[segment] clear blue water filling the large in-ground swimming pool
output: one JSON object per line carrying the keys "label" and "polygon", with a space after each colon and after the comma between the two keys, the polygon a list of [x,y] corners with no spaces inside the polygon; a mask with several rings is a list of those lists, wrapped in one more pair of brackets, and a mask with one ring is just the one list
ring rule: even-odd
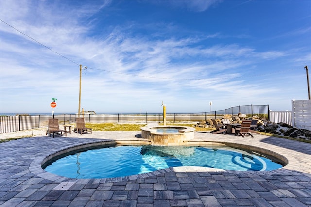
{"label": "clear blue water filling the large in-ground swimming pool", "polygon": [[77,152],[48,163],[45,170],[69,178],[110,178],[177,166],[239,171],[273,170],[282,167],[265,157],[229,147],[142,145]]}

